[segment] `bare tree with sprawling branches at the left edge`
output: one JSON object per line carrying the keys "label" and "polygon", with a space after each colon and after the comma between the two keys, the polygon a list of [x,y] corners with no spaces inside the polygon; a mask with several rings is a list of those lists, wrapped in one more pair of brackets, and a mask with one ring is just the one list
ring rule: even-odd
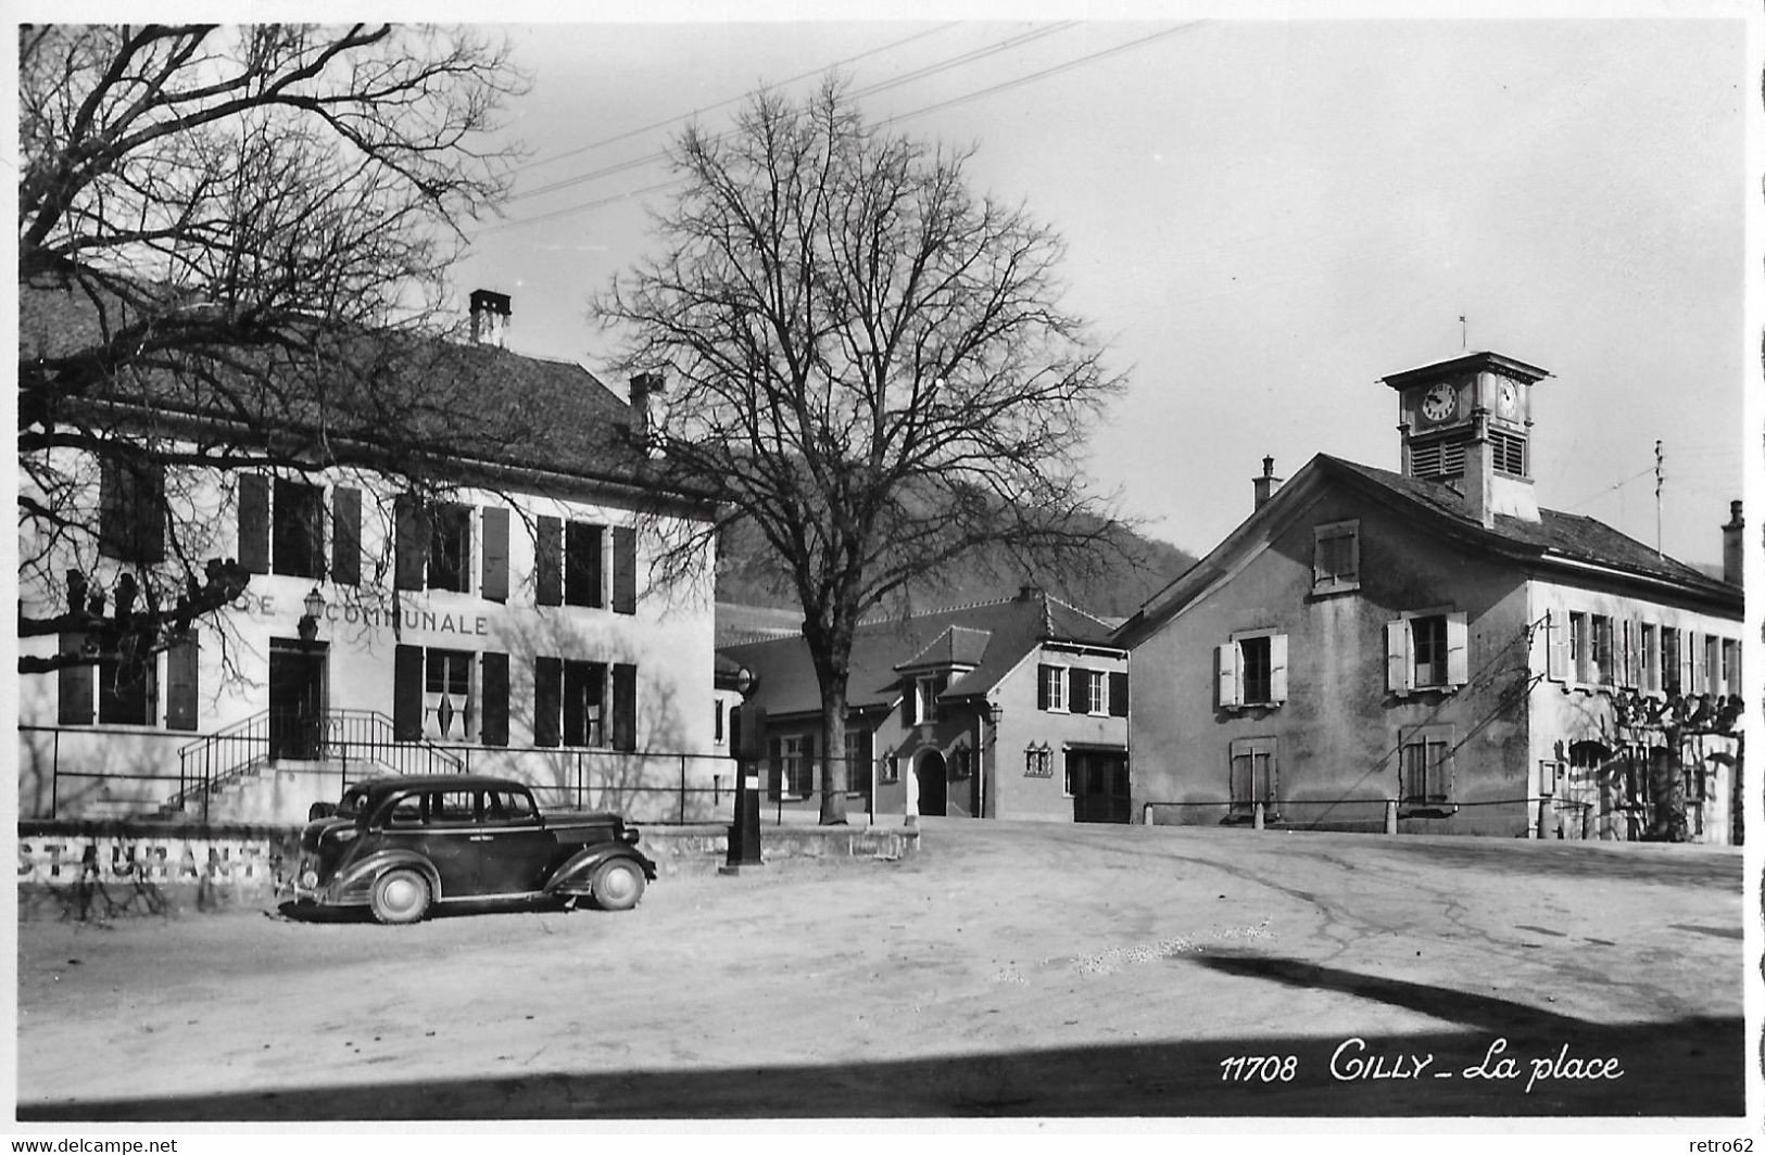
{"label": "bare tree with sprawling branches at the left edge", "polygon": [[468,30],[21,28],[19,635],[86,637],[21,672],[139,663],[244,591],[199,471],[415,469],[450,432],[422,339],[522,83]]}

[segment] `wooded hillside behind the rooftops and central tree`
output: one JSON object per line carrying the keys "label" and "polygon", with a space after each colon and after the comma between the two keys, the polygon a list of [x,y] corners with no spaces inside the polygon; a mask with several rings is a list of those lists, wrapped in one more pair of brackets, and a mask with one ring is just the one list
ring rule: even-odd
{"label": "wooded hillside behind the rooftops and central tree", "polygon": [[[932,610],[971,601],[1010,598],[1025,584],[1041,585],[1055,598],[1103,619],[1131,615],[1154,592],[1195,564],[1195,555],[1168,541],[1142,538],[1115,527],[1108,545],[1094,550],[1084,575],[1024,573],[1004,550],[978,557],[937,582],[923,582],[909,591],[914,608]],[[717,601],[775,610],[794,610],[801,621],[789,584],[773,561],[766,541],[741,522],[724,533],[718,545]]]}

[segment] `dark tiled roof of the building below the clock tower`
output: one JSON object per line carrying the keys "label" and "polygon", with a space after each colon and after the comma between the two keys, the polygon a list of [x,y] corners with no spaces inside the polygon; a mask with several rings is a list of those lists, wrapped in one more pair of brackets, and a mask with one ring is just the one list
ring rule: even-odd
{"label": "dark tiled roof of the building below the clock tower", "polygon": [[1449,485],[1408,478],[1401,473],[1391,473],[1389,469],[1361,466],[1340,457],[1329,457],[1327,453],[1318,453],[1313,460],[1327,473],[1368,481],[1403,503],[1419,506],[1426,513],[1438,518],[1446,518],[1449,524],[1458,524],[1458,527],[1467,531],[1490,534],[1490,545],[1493,547],[1506,543],[1514,552],[1537,555],[1544,561],[1553,557],[1567,559],[1604,566],[1608,570],[1638,573],[1650,578],[1679,582],[1687,589],[1705,594],[1740,594],[1737,585],[1730,585],[1728,582],[1712,578],[1693,566],[1675,561],[1673,557],[1657,554],[1636,538],[1629,538],[1611,525],[1590,517],[1560,513],[1557,510],[1539,510],[1539,520],[1532,522],[1498,513],[1495,517],[1495,525],[1491,529],[1484,529],[1483,522],[1472,513],[1470,503],[1467,503],[1465,497]]}

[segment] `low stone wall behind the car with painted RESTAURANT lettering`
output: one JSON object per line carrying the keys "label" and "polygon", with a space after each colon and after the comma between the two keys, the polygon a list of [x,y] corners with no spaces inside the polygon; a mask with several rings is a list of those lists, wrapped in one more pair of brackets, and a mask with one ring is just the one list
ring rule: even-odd
{"label": "low stone wall behind the car with painted RESTAURANT lettering", "polygon": [[[644,825],[639,848],[660,876],[713,873],[727,825]],[[918,852],[900,825],[761,827],[761,861],[874,861]],[[18,823],[19,917],[104,919],[270,908],[286,894],[300,827],[176,822]]]}

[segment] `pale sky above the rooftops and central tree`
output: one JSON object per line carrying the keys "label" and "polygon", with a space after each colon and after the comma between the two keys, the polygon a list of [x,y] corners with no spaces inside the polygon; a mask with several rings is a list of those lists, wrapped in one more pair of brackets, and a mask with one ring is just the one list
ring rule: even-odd
{"label": "pale sky above the rooftops and central tree", "polygon": [[510,347],[598,370],[618,335],[590,296],[655,249],[685,118],[838,65],[868,116],[976,145],[971,185],[1063,235],[1066,305],[1128,374],[1087,467],[1151,536],[1213,548],[1264,455],[1398,469],[1378,379],[1491,349],[1551,372],[1543,506],[1654,545],[1659,439],[1661,545],[1719,561],[1758,446],[1747,25],[1170,11],[505,25],[528,159],[459,291],[514,298]]}

